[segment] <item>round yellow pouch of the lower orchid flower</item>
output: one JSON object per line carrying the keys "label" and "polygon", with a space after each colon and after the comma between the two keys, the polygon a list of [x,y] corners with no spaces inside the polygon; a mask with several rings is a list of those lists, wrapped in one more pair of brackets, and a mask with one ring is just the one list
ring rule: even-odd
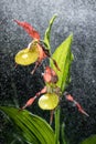
{"label": "round yellow pouch of the lower orchid flower", "polygon": [[43,110],[53,110],[58,104],[58,96],[55,93],[46,93],[39,99],[39,106]]}

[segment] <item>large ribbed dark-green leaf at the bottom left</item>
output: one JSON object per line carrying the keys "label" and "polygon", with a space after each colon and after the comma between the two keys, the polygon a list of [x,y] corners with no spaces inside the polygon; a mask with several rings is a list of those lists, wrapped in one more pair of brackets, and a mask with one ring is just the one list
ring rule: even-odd
{"label": "large ribbed dark-green leaf at the bottom left", "polygon": [[19,127],[21,136],[30,144],[55,144],[55,134],[52,127],[41,117],[26,110],[10,106],[0,106],[12,122]]}

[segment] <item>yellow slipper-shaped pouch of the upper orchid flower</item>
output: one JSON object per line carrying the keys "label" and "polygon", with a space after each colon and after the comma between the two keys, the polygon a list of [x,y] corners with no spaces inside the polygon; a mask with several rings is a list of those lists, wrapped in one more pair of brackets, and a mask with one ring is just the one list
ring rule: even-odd
{"label": "yellow slipper-shaped pouch of the upper orchid flower", "polygon": [[38,49],[30,50],[29,48],[21,50],[15,55],[15,63],[21,65],[30,65],[39,58]]}

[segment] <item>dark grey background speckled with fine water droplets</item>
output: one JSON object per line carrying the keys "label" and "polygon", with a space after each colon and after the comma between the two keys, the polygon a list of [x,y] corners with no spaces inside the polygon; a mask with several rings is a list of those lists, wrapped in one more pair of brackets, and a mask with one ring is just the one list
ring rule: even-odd
{"label": "dark grey background speckled with fine water droplets", "polygon": [[[14,69],[15,53],[25,48],[31,38],[13,22],[13,19],[28,21],[43,39],[54,13],[58,17],[52,28],[52,52],[73,32],[74,62],[68,92],[89,114],[89,117],[82,115],[63,99],[61,120],[66,124],[68,140],[72,144],[77,144],[96,134],[96,0],[0,0],[0,103],[23,105],[43,86],[40,69],[34,76],[30,74],[33,65],[19,65]],[[49,119],[49,114],[39,110],[38,104],[33,104],[31,110]],[[8,144],[7,131],[11,133],[11,128],[2,115],[0,127],[1,144]]]}

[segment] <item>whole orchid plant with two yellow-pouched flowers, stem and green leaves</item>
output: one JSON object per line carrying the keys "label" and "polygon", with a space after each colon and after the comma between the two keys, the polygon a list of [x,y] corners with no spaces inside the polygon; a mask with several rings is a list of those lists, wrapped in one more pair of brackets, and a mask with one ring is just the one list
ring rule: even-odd
{"label": "whole orchid plant with two yellow-pouched flowers, stem and green leaves", "polygon": [[[64,123],[62,124],[62,130],[60,130],[60,101],[62,96],[65,96],[66,100],[73,102],[79,112],[88,116],[73,96],[65,92],[66,86],[71,82],[70,70],[73,61],[71,44],[73,41],[73,34],[68,35],[66,40],[56,48],[54,53],[51,54],[51,28],[55,18],[56,16],[51,19],[49,28],[45,31],[44,40],[40,39],[39,32],[36,32],[29,23],[15,20],[15,22],[23,27],[34,39],[28,48],[23,49],[15,55],[15,62],[21,65],[28,65],[35,62],[34,70],[31,72],[31,74],[33,74],[38,66],[41,65],[42,60],[45,58],[50,59],[50,64],[46,65],[43,74],[45,86],[41,92],[38,92],[36,95],[31,97],[21,109],[0,106],[0,110],[17,125],[19,136],[22,137],[22,141],[29,144],[60,144],[60,131],[62,135],[62,144],[67,144],[64,136]],[[55,130],[53,130],[44,119],[24,110],[40,95],[40,107],[43,110],[51,110],[52,112],[51,123],[54,113]],[[15,143],[15,141],[13,142]]]}

